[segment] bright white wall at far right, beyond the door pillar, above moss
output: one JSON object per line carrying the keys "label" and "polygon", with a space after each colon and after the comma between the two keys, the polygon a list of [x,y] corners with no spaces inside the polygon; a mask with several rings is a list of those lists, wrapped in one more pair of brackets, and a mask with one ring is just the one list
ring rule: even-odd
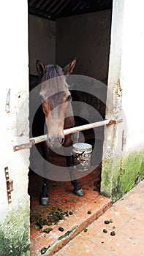
{"label": "bright white wall at far right, beyond the door pillar, above moss", "polygon": [[[137,8],[137,9],[136,9]],[[126,116],[126,151],[144,149],[144,2],[124,3],[124,29],[121,59],[122,108]]]}

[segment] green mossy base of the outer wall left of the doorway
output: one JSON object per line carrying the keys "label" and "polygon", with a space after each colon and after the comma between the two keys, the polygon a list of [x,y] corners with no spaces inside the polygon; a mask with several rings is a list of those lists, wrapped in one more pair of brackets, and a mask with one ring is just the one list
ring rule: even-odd
{"label": "green mossy base of the outer wall left of the doorway", "polygon": [[29,251],[29,209],[10,211],[0,225],[0,255],[30,255]]}

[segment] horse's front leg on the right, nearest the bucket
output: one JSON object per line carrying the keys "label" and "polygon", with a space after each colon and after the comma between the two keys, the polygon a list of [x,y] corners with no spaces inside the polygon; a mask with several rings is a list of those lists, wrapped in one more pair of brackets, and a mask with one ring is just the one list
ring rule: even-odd
{"label": "horse's front leg on the right, nearest the bucket", "polygon": [[80,185],[77,184],[77,180],[75,178],[75,174],[74,174],[74,168],[72,165],[72,155],[71,155],[71,148],[69,148],[69,146],[72,146],[72,139],[67,138],[67,140],[64,143],[64,152],[66,155],[66,162],[67,162],[67,167],[69,169],[69,174],[70,174],[70,179],[71,179],[71,184],[74,186],[74,190],[73,192],[75,193],[75,195],[79,195],[80,197],[83,197],[84,192],[83,189],[80,187]]}

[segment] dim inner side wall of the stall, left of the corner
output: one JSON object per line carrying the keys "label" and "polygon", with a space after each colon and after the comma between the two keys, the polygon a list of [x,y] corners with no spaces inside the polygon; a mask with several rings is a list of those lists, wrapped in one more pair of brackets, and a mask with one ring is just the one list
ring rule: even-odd
{"label": "dim inner side wall of the stall, left of the corner", "polygon": [[56,22],[29,15],[29,68],[37,74],[37,59],[45,64],[56,61]]}

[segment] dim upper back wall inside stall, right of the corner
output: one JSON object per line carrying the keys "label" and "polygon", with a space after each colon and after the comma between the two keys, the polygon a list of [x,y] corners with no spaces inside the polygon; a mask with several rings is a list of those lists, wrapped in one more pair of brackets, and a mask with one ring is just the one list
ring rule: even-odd
{"label": "dim upper back wall inside stall, right of the corner", "polygon": [[111,11],[56,20],[56,63],[77,57],[75,74],[107,81]]}

